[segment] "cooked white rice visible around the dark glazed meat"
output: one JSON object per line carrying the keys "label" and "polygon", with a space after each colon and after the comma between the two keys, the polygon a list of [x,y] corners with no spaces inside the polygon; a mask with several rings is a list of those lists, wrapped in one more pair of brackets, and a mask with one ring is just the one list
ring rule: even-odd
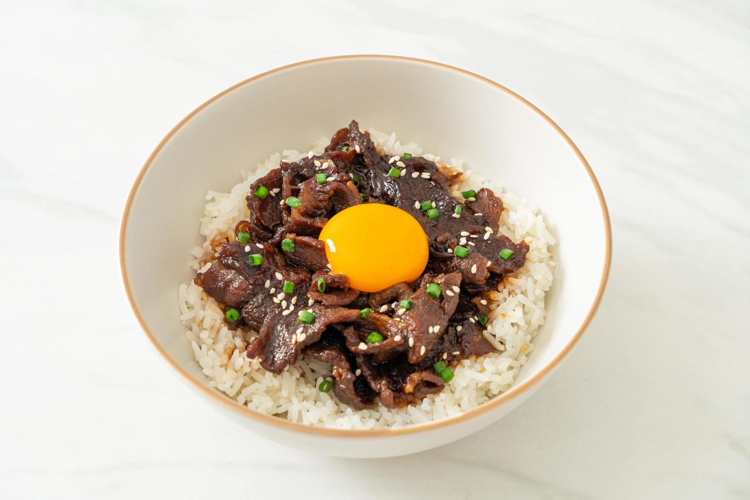
{"label": "cooked white rice visible around the dark glazed meat", "polygon": [[[371,137],[386,154],[400,155],[410,152],[422,155],[436,163],[444,163],[463,170],[463,161],[452,158],[441,160],[433,154],[423,154],[413,142],[401,144],[395,133],[387,134],[368,129]],[[328,144],[323,138],[314,142],[312,151],[323,153]],[[233,229],[239,220],[247,219],[249,211],[245,196],[251,181],[275,169],[279,161],[295,161],[308,152],[284,150],[272,154],[268,160],[249,172],[240,172],[241,181],[229,193],[208,191],[200,233],[205,238],[202,247],[192,250],[193,269],[208,268],[215,250],[224,241],[233,239]],[[231,330],[223,322],[223,314],[216,302],[209,298],[192,281],[179,287],[180,319],[187,327],[185,337],[193,346],[196,361],[208,377],[208,384],[227,396],[269,415],[278,415],[289,421],[320,427],[371,429],[373,427],[402,427],[409,424],[438,420],[456,415],[464,410],[490,400],[507,391],[534,350],[534,337],[544,325],[544,295],[552,285],[555,263],[550,247],[555,239],[544,226],[538,209],[512,193],[502,193],[480,175],[465,170],[458,191],[490,187],[502,199],[499,231],[513,241],[526,241],[529,253],[526,265],[508,275],[490,301],[491,334],[485,337],[499,347],[500,352],[475,360],[463,360],[455,368],[454,379],[439,394],[426,397],[422,402],[400,409],[387,409],[378,405],[374,409],[354,411],[339,403],[333,392],[323,393],[317,386],[331,375],[330,365],[305,358],[297,361],[281,375],[267,372],[260,361],[245,355],[245,334]],[[470,176],[470,179],[469,179]],[[488,328],[490,330],[490,328]]]}

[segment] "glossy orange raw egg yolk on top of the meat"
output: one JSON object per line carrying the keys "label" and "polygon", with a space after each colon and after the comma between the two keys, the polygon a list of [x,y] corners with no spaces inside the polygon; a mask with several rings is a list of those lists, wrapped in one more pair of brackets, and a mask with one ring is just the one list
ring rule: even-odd
{"label": "glossy orange raw egg yolk on top of the meat", "polygon": [[360,292],[380,292],[416,280],[428,259],[427,235],[401,208],[364,203],[335,214],[318,237],[333,274]]}

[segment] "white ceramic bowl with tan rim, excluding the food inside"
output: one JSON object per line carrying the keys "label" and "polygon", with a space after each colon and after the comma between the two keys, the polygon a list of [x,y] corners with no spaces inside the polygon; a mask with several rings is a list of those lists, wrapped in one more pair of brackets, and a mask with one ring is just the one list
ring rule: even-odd
{"label": "white ceramic bowl with tan rim, excluding the food inside", "polygon": [[[284,148],[306,151],[355,118],[395,131],[425,151],[469,167],[539,205],[557,238],[547,323],[511,390],[478,408],[428,424],[335,430],[263,415],[209,388],[178,320],[177,289],[193,277],[207,190],[228,190]],[[580,339],[610,265],[604,198],[568,136],[523,97],[455,67],[380,55],[323,58],[254,76],[206,101],[157,145],[133,184],[120,235],[127,296],[166,361],[203,400],[285,445],[343,457],[427,450],[492,424],[541,385]]]}

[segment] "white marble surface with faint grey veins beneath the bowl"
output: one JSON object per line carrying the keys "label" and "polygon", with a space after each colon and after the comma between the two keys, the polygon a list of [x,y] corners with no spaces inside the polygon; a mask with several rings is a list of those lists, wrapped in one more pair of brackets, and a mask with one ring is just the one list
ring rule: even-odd
{"label": "white marble surface with faint grey veins beneath the bowl", "polygon": [[[1,11],[0,497],[750,498],[747,1]],[[553,379],[481,433],[390,460],[311,457],[220,418],[139,331],[118,269],[127,191],[170,127],[255,73],[343,53],[443,61],[529,98],[613,223],[607,294]]]}

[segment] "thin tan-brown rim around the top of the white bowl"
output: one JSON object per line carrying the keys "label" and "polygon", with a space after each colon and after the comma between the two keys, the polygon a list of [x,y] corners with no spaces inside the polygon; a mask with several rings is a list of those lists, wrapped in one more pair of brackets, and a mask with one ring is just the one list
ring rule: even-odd
{"label": "thin tan-brown rim around the top of the white bowl", "polygon": [[[392,61],[402,61],[402,62],[405,61],[405,62],[412,62],[416,64],[425,64],[429,66],[440,67],[442,69],[452,70],[457,73],[460,73],[463,76],[469,76],[470,78],[478,79],[481,82],[493,85],[495,88],[499,89],[500,91],[505,92],[505,94],[508,94],[511,97],[514,97],[515,99],[519,100],[520,103],[523,103],[533,112],[535,112],[537,115],[541,116],[541,118],[544,118],[544,121],[547,121],[547,124],[550,124],[550,126],[553,127],[553,129],[556,130],[557,133],[559,133],[562,139],[564,139],[565,142],[568,144],[568,146],[574,151],[578,160],[580,161],[581,166],[583,167],[586,174],[589,176],[589,180],[591,181],[592,187],[595,190],[596,196],[598,197],[599,205],[601,207],[601,216],[603,218],[603,223],[604,223],[604,239],[605,239],[604,241],[604,265],[602,266],[602,269],[601,269],[601,279],[599,280],[599,286],[598,286],[598,290],[596,292],[594,301],[592,302],[591,307],[589,308],[589,312],[586,314],[586,317],[583,319],[583,322],[580,324],[580,327],[578,328],[574,336],[560,350],[560,352],[558,352],[557,355],[554,358],[552,358],[552,360],[550,360],[546,365],[544,365],[544,367],[541,367],[541,370],[539,370],[538,373],[530,377],[528,380],[521,382],[518,385],[512,386],[510,389],[508,389],[508,391],[498,394],[496,397],[493,397],[491,400],[485,403],[481,403],[481,405],[476,406],[475,408],[468,409],[464,412],[460,412],[458,415],[453,415],[452,417],[446,417],[446,418],[441,418],[440,420],[437,420],[437,421],[429,421],[429,422],[425,422],[422,424],[413,424],[413,425],[408,425],[405,427],[397,427],[397,428],[383,427],[383,428],[377,428],[377,429],[338,429],[338,428],[333,428],[333,427],[314,427],[309,424],[300,424],[296,422],[290,422],[290,421],[285,420],[284,418],[279,418],[274,415],[266,415],[265,413],[258,412],[257,410],[254,410],[254,409],[250,409],[247,406],[242,405],[241,403],[238,403],[236,400],[233,400],[230,397],[226,396],[226,394],[221,394],[216,389],[211,388],[208,385],[194,379],[193,376],[190,375],[190,373],[187,373],[187,370],[184,370],[184,368],[181,367],[177,363],[177,361],[175,361],[171,356],[169,356],[166,350],[156,340],[156,337],[154,337],[154,334],[151,332],[151,329],[146,324],[145,319],[143,318],[136,304],[135,298],[133,296],[133,290],[130,288],[130,278],[127,273],[127,265],[125,263],[125,240],[127,238],[127,225],[130,219],[130,208],[133,205],[133,199],[135,199],[136,193],[139,190],[139,187],[143,179],[143,176],[145,175],[145,172],[148,171],[148,168],[151,166],[151,162],[154,160],[155,157],[157,157],[157,155],[160,153],[163,146],[166,145],[166,142],[169,142],[169,139],[171,139],[172,136],[184,124],[186,124],[187,121],[190,120],[190,118],[193,118],[193,116],[195,116],[199,111],[201,111],[203,108],[205,108],[209,104],[213,103],[214,100],[219,99],[223,95],[228,94],[229,92],[235,90],[236,88],[242,87],[242,85],[246,85],[250,82],[254,82],[257,79],[261,79],[265,76],[269,76],[274,73],[280,73],[284,70],[289,70],[294,67],[300,67],[300,66],[304,66],[308,64],[317,64],[317,63],[326,62],[326,61],[341,61],[341,60],[348,60],[348,59],[380,59],[380,60],[392,60]],[[599,307],[599,304],[601,303],[601,297],[602,295],[604,295],[604,289],[607,286],[607,279],[609,277],[610,264],[612,260],[612,229],[610,226],[610,217],[609,217],[609,211],[607,210],[607,203],[604,201],[604,194],[601,193],[601,187],[599,186],[599,183],[596,179],[596,176],[594,175],[594,172],[591,169],[591,166],[589,166],[589,163],[586,161],[586,158],[583,157],[583,154],[581,154],[577,145],[575,145],[574,142],[570,139],[570,137],[568,137],[568,135],[562,131],[562,128],[560,128],[558,124],[556,124],[549,116],[545,115],[544,112],[541,111],[541,109],[538,109],[538,107],[534,106],[532,103],[530,103],[525,98],[521,97],[519,94],[516,94],[514,91],[511,91],[509,88],[506,88],[505,86],[500,85],[497,82],[493,82],[493,80],[485,78],[484,76],[480,76],[476,73],[472,73],[468,70],[463,70],[455,66],[450,66],[449,64],[443,64],[443,63],[436,62],[436,61],[429,61],[427,59],[413,58],[413,57],[407,57],[403,55],[375,55],[375,54],[333,55],[329,57],[308,59],[306,61],[299,61],[293,64],[287,64],[281,67],[277,67],[273,70],[266,71],[264,73],[259,73],[255,76],[251,76],[250,78],[245,79],[242,82],[237,83],[236,85],[232,85],[231,87],[226,88],[223,91],[220,91],[218,94],[214,95],[214,97],[211,97],[210,99],[206,100],[200,106],[196,107],[196,109],[193,109],[193,111],[190,112],[189,115],[182,118],[182,120],[179,121],[178,124],[172,127],[172,130],[169,130],[169,133],[167,133],[166,136],[164,136],[164,138],[161,139],[161,141],[158,143],[156,148],[154,148],[154,151],[152,151],[151,154],[148,156],[148,159],[145,160],[145,163],[143,164],[140,171],[138,172],[138,175],[136,176],[135,181],[133,181],[133,186],[130,187],[130,193],[127,196],[127,201],[125,202],[125,207],[124,207],[124,211],[123,211],[122,219],[120,223],[119,256],[120,256],[120,270],[122,274],[122,281],[124,284],[125,292],[127,294],[127,300],[130,302],[130,307],[133,309],[133,313],[135,314],[136,319],[138,319],[138,322],[141,325],[141,328],[143,329],[146,336],[148,337],[148,340],[151,340],[151,343],[154,345],[157,352],[159,352],[159,354],[162,355],[163,358],[166,360],[167,364],[169,364],[177,373],[179,373],[180,376],[183,379],[185,379],[190,386],[192,386],[193,388],[196,388],[197,391],[201,392],[202,394],[205,394],[206,396],[208,396],[215,402],[219,403],[221,406],[225,406],[228,409],[238,412],[239,415],[250,417],[256,421],[259,421],[260,424],[269,424],[269,425],[272,425],[275,427],[281,427],[281,428],[284,428],[285,430],[290,430],[293,432],[309,433],[309,434],[318,435],[318,436],[335,436],[335,437],[341,437],[341,438],[383,437],[383,436],[401,436],[401,435],[406,435],[406,434],[424,433],[424,432],[428,432],[431,430],[436,430],[440,427],[450,427],[455,424],[459,424],[460,422],[468,421],[471,418],[475,418],[478,415],[482,415],[486,412],[489,412],[491,409],[495,409],[496,407],[509,403],[511,400],[514,400],[516,397],[529,391],[538,382],[540,382],[541,379],[544,379],[550,373],[550,371],[553,370],[553,368],[555,368],[571,352],[571,349],[573,349],[573,347],[578,343],[578,341],[580,340],[580,337],[583,336],[583,332],[586,331],[586,328],[588,328],[594,314],[596,313],[596,310]]]}

